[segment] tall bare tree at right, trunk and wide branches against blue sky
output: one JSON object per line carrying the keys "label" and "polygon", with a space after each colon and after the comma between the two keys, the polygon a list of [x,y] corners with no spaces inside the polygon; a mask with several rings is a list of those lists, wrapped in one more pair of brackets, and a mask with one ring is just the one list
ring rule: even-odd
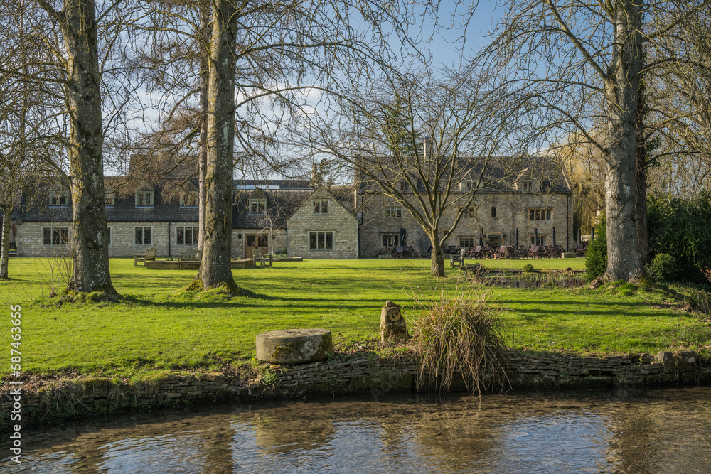
{"label": "tall bare tree at right, trunk and wide branches against blue sky", "polygon": [[[643,48],[665,48],[685,18],[706,2],[556,0],[511,2],[493,43],[479,55],[506,74],[506,87],[527,111],[536,146],[577,131],[606,161],[606,279],[643,272],[636,210],[636,124],[644,73],[684,61],[678,48],[645,63]],[[591,133],[594,124],[604,131]],[[598,138],[602,137],[602,139]]]}

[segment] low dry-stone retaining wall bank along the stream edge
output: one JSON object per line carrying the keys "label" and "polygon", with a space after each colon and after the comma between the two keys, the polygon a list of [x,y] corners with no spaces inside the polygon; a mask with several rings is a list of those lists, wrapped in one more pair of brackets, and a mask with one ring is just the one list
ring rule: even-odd
{"label": "low dry-stone retaining wall bank along the stream edge", "polygon": [[[139,382],[100,377],[34,377],[21,389],[22,424],[55,424],[85,416],[217,403],[439,392],[435,377],[422,377],[410,353],[346,357],[350,360],[344,357],[297,366],[263,364],[251,374],[166,374]],[[711,385],[711,366],[691,351],[607,357],[507,352],[504,360],[515,392]],[[461,382],[451,388],[455,393],[464,391],[466,387]],[[9,430],[14,404],[10,392],[6,385],[0,388],[3,432]]]}

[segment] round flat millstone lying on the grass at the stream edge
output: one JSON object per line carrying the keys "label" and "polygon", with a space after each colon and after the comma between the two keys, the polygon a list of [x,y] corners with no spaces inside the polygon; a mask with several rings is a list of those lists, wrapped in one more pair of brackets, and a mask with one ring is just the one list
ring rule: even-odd
{"label": "round flat millstone lying on the grass at the stream edge", "polygon": [[284,329],[257,334],[257,360],[272,364],[306,364],[333,354],[328,329]]}

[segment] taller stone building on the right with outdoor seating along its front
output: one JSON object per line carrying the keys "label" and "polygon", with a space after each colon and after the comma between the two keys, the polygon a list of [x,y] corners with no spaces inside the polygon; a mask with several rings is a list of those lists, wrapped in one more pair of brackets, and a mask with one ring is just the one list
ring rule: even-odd
{"label": "taller stone building on the right with outdoor seating along its front", "polygon": [[[565,171],[545,158],[498,157],[483,173],[477,188],[481,163],[462,161],[463,173],[454,183],[450,200],[454,202],[442,215],[439,229],[454,226],[456,213],[475,191],[474,200],[466,206],[456,230],[444,246],[474,247],[481,243],[493,247],[516,244],[555,244],[569,249],[574,244],[573,202],[570,182]],[[467,170],[469,168],[469,171]],[[360,225],[360,256],[391,254],[393,247],[410,245],[416,253],[427,254],[431,243],[422,227],[407,209],[389,198],[377,185],[358,176],[356,201]],[[360,179],[358,179],[360,178]],[[415,203],[415,193],[424,190],[405,189],[402,196]],[[419,207],[418,207],[419,208]]]}

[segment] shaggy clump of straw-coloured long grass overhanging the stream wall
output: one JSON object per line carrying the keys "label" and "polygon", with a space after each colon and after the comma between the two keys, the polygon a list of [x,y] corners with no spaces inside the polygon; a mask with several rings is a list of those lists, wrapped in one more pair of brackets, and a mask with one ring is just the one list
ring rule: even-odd
{"label": "shaggy clump of straw-coloured long grass overhanging the stream wall", "polygon": [[472,394],[510,387],[501,363],[499,327],[498,310],[486,304],[483,294],[448,299],[443,293],[413,321],[419,382],[429,373],[439,377],[442,390],[449,389],[457,375]]}

